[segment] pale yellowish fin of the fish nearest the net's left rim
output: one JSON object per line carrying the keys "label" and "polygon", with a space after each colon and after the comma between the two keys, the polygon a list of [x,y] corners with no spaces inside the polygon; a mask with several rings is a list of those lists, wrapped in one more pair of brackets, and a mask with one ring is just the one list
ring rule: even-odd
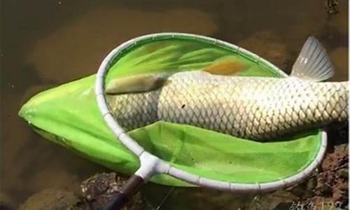
{"label": "pale yellowish fin of the fish nearest the net's left rim", "polygon": [[125,94],[157,90],[166,83],[169,83],[169,80],[167,80],[168,76],[169,74],[167,73],[150,73],[115,78],[106,85],[106,94]]}

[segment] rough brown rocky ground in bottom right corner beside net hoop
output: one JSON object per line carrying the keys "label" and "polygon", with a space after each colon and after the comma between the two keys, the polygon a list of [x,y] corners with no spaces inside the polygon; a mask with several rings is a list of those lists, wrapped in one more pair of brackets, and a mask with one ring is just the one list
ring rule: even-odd
{"label": "rough brown rocky ground in bottom right corner beside net hoop", "polygon": [[[346,209],[349,202],[348,147],[348,144],[341,144],[334,146],[333,151],[329,149],[317,173],[288,189],[299,197],[289,209]],[[289,203],[290,201],[283,201],[276,209],[288,209],[285,207]]]}

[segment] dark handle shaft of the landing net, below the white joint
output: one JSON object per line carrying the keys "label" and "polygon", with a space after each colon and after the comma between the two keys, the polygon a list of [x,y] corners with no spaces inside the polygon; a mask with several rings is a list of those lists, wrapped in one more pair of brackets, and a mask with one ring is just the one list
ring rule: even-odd
{"label": "dark handle shaft of the landing net, below the white joint", "polygon": [[109,202],[104,210],[118,210],[121,209],[127,201],[134,196],[146,182],[141,176],[132,175],[123,188],[116,195],[114,200]]}

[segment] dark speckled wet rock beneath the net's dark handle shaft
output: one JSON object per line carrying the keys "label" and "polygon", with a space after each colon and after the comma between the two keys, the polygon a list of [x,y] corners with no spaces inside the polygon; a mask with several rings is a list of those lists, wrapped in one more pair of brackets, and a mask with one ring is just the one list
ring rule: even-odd
{"label": "dark speckled wet rock beneath the net's dark handle shaft", "polygon": [[[116,176],[116,173],[95,174],[90,179],[83,181],[80,188],[86,205],[94,210],[104,209],[126,181],[127,179]],[[137,193],[122,209],[139,210],[145,208],[146,204],[142,200],[141,194]]]}

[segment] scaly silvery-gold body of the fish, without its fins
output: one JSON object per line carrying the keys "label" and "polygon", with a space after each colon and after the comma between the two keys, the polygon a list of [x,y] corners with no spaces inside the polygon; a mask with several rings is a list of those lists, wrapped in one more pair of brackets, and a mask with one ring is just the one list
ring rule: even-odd
{"label": "scaly silvery-gold body of the fish, without its fins", "polygon": [[120,125],[134,130],[165,120],[266,140],[348,119],[347,82],[216,76],[204,71],[174,73],[168,80],[158,90],[109,95]]}

